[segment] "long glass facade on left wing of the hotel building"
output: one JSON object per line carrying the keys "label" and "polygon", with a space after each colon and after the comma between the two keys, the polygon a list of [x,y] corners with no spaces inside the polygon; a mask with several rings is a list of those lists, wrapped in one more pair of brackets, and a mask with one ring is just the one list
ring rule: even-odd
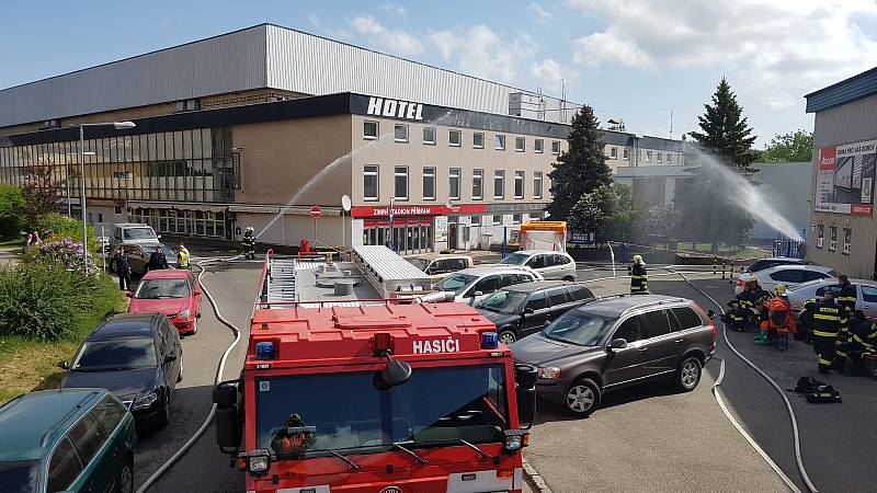
{"label": "long glass facade on left wing of the hotel building", "polygon": [[[88,137],[88,128],[86,129]],[[231,128],[195,128],[86,139],[89,199],[229,203],[234,196]],[[70,195],[81,190],[79,140],[0,148],[0,181],[23,186],[45,173]],[[41,170],[42,168],[42,170]]]}

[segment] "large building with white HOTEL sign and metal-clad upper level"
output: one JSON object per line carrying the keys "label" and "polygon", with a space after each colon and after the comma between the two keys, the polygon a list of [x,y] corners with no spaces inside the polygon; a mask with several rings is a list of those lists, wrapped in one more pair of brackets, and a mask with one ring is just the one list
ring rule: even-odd
{"label": "large building with white HOTEL sign and metal-clad upper level", "polygon": [[[578,110],[261,24],[0,91],[0,181],[48,176],[76,210],[84,184],[95,226],[143,221],[225,241],[253,227],[264,243],[392,242],[402,252],[485,248],[544,217],[547,175]],[[82,174],[76,127],[119,121],[136,127],[84,127]],[[611,163],[652,159],[630,134],[604,138]]]}

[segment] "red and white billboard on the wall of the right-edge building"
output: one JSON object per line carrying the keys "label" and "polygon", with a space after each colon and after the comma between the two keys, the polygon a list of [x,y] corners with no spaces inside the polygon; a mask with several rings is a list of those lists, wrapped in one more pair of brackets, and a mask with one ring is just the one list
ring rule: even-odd
{"label": "red and white billboard on the wall of the right-edge building", "polygon": [[819,149],[816,210],[870,216],[877,139]]}

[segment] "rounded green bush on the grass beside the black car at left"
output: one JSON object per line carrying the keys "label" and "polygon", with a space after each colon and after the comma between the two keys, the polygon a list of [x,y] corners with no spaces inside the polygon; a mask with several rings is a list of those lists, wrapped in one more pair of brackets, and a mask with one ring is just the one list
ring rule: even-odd
{"label": "rounded green bush on the grass beside the black car at left", "polygon": [[0,336],[59,340],[88,331],[119,308],[122,294],[105,275],[68,272],[60,263],[0,267]]}

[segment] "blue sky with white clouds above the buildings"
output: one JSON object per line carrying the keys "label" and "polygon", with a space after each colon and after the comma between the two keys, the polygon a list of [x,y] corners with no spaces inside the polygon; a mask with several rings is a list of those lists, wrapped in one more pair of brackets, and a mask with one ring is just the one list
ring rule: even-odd
{"label": "blue sky with white clouds above the buildings", "polygon": [[592,105],[637,134],[696,129],[721,77],[759,146],[812,129],[804,94],[877,60],[874,0],[7,1],[0,88],[272,22]]}

